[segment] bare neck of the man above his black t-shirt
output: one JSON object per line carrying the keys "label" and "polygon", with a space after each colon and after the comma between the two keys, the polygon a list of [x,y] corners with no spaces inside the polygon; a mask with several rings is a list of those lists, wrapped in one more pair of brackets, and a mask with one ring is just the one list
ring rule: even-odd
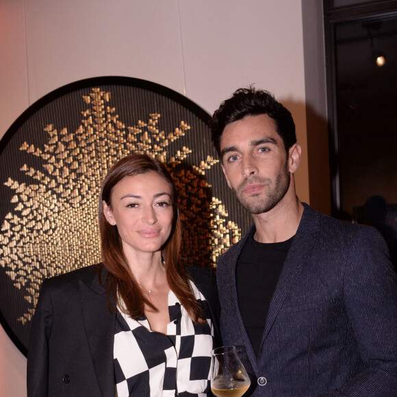
{"label": "bare neck of the man above his black t-shirt", "polygon": [[262,214],[253,214],[257,242],[283,242],[296,234],[300,218],[303,214],[303,204],[296,196],[283,200],[274,208]]}

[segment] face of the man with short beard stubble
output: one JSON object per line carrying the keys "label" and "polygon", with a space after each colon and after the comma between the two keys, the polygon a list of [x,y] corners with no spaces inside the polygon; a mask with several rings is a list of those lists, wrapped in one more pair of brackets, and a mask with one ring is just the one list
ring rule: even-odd
{"label": "face of the man with short beard stubble", "polygon": [[227,125],[220,151],[227,183],[248,212],[262,214],[282,201],[290,188],[290,169],[272,118],[246,116]]}

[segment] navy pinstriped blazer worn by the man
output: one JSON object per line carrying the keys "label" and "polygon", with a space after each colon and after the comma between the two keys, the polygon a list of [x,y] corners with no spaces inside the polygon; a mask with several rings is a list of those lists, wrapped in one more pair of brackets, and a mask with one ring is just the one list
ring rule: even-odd
{"label": "navy pinstriped blazer worn by the man", "polygon": [[217,268],[222,340],[237,347],[250,374],[246,396],[396,397],[397,277],[378,231],[305,205],[258,357],[235,285],[251,231]]}

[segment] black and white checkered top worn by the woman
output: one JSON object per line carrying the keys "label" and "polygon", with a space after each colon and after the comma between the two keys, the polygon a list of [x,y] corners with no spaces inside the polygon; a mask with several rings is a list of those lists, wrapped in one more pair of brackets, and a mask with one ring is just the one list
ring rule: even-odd
{"label": "black and white checkered top worn by the woman", "polygon": [[116,396],[211,395],[209,367],[214,326],[207,301],[190,281],[207,324],[194,324],[170,291],[167,335],[151,331],[146,317],[117,313],[114,335]]}

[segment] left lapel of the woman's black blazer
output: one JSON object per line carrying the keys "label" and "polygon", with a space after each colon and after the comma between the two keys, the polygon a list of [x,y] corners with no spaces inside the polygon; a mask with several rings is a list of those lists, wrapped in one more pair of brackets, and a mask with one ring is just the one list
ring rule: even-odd
{"label": "left lapel of the woman's black blazer", "polygon": [[[104,279],[106,271],[101,272]],[[79,281],[84,326],[90,348],[92,364],[102,396],[114,396],[114,322],[115,313],[107,309],[105,289],[97,274],[91,280]]]}

